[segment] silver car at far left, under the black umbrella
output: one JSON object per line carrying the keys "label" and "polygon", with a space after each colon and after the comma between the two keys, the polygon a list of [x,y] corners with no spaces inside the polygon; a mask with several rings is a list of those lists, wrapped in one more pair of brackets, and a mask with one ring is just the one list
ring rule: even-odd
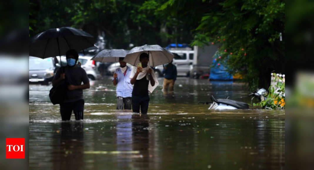
{"label": "silver car at far left, under the black umbrella", "polygon": [[52,81],[59,64],[51,58],[40,59],[37,57],[29,57],[29,82],[42,83],[48,85]]}

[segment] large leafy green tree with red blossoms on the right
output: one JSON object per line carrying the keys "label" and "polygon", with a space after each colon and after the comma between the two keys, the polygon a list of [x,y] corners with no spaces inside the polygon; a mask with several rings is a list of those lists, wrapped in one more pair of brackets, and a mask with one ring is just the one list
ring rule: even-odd
{"label": "large leafy green tree with red blossoms on the right", "polygon": [[188,13],[206,11],[198,20],[198,26],[192,29],[191,45],[218,44],[221,62],[231,73],[243,75],[251,89],[268,88],[270,73],[284,72],[283,0],[203,0],[195,3],[197,7],[188,8],[187,3],[169,0],[160,10],[170,14],[176,9],[178,13],[187,9]]}

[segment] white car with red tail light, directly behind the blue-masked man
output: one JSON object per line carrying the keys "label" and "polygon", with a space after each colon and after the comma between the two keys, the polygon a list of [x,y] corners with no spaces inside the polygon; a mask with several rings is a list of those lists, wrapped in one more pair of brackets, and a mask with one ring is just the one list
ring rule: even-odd
{"label": "white car with red tail light, directly behind the blue-masked man", "polygon": [[[81,67],[86,71],[88,78],[91,80],[96,80],[101,77],[97,67],[97,65],[99,65],[99,62],[90,60],[91,58],[91,56],[78,56],[78,62],[81,63]],[[63,66],[67,65],[67,60],[65,56],[61,57],[61,61]]]}

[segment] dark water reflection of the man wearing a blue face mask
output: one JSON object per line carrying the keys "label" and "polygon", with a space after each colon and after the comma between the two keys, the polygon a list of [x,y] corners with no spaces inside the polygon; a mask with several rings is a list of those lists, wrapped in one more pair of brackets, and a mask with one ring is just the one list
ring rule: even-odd
{"label": "dark water reflection of the man wearing a blue face mask", "polygon": [[84,169],[84,124],[81,121],[61,122],[53,137],[53,169]]}

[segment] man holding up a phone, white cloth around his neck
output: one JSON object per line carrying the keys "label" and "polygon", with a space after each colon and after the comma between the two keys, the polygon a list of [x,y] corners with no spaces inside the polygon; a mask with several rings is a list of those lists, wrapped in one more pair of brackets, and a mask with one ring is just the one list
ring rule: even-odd
{"label": "man holding up a phone, white cloth around his neck", "polygon": [[141,109],[142,114],[147,114],[149,105],[149,92],[159,85],[157,77],[153,69],[149,68],[149,55],[142,53],[139,56],[139,63],[137,67],[133,67],[130,82],[133,87],[132,91],[132,109],[133,112],[139,113]]}

